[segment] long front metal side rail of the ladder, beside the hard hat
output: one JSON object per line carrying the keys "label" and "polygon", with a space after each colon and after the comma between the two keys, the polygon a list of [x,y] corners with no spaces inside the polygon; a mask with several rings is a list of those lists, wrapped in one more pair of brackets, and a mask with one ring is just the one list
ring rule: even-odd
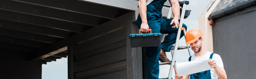
{"label": "long front metal side rail of the ladder, beside the hard hat", "polygon": [[168,78],[172,77],[173,66],[174,66],[174,63],[175,63],[176,53],[177,53],[178,45],[179,45],[179,41],[180,41],[180,34],[181,34],[180,26],[182,27],[182,25],[183,25],[183,19],[184,19],[185,12],[186,12],[186,4],[183,4],[181,19],[180,19],[180,25],[178,27],[178,33],[177,33],[177,37],[176,37],[175,47],[174,47],[174,51],[173,51],[174,53],[173,53],[173,58],[172,58],[172,63],[171,63]]}

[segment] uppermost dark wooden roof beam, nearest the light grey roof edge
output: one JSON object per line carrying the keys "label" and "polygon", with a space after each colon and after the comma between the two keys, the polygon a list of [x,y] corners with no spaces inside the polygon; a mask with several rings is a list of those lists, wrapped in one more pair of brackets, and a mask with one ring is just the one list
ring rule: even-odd
{"label": "uppermost dark wooden roof beam, nearest the light grey roof edge", "polygon": [[130,11],[76,0],[12,0],[37,6],[49,7],[74,13],[115,19]]}

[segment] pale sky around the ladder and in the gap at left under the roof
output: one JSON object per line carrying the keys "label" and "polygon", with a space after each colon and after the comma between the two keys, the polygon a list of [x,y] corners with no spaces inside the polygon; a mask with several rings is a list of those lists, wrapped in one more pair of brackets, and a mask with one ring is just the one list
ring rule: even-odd
{"label": "pale sky around the ladder and in the gap at left under the roof", "polygon": [[[183,1],[183,0],[180,0]],[[184,24],[188,29],[198,29],[198,16],[200,16],[204,9],[208,6],[211,0],[187,0],[190,1],[186,10],[191,10],[187,19],[184,19]],[[186,46],[185,38],[180,39],[179,45]],[[194,53],[192,49],[191,55]],[[171,53],[166,53],[167,57],[171,60]],[[182,63],[189,57],[187,49],[178,50],[176,62]],[[170,65],[160,66],[159,78],[167,78],[169,74]],[[174,76],[174,75],[173,75]],[[47,62],[47,65],[42,65],[42,79],[67,79],[67,58],[57,59],[56,61]]]}

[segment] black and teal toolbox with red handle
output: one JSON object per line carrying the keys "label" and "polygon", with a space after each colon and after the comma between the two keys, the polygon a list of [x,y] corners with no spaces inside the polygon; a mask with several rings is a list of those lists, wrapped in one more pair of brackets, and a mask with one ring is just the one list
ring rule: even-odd
{"label": "black and teal toolbox with red handle", "polygon": [[150,34],[130,34],[131,47],[152,47],[161,45],[161,33],[151,33],[151,29],[148,29]]}

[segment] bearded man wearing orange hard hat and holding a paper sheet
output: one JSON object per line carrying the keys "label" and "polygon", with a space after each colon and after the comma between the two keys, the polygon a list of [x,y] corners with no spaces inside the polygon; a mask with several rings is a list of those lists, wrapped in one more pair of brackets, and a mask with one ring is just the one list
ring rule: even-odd
{"label": "bearded man wearing orange hard hat and holding a paper sheet", "polygon": [[203,36],[203,34],[198,29],[191,29],[186,33],[186,44],[190,44],[194,54],[185,59],[184,62],[212,59],[208,62],[208,64],[213,69],[183,77],[178,77],[175,75],[175,79],[227,79],[227,74],[220,55],[205,50],[203,47],[203,38],[201,36]]}

